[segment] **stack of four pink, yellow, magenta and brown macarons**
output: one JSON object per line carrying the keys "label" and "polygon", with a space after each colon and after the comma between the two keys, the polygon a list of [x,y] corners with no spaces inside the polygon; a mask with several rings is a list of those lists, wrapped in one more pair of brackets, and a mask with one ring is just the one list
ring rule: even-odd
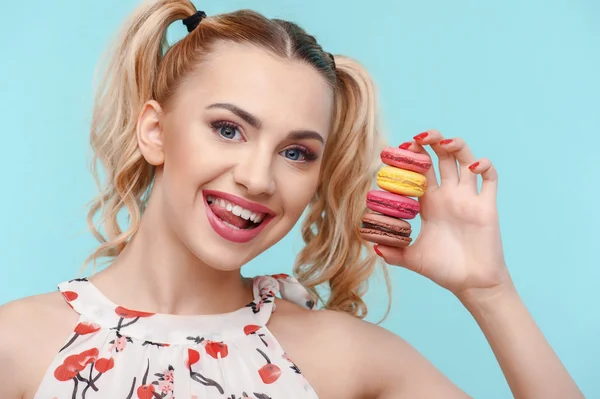
{"label": "stack of four pink, yellow, magenta and brown macarons", "polygon": [[377,173],[377,185],[382,190],[367,194],[367,208],[372,212],[362,218],[360,235],[363,239],[391,247],[406,247],[412,238],[411,226],[406,219],[415,218],[419,202],[427,190],[424,173],[431,167],[431,159],[401,148],[387,147],[381,152],[385,164]]}

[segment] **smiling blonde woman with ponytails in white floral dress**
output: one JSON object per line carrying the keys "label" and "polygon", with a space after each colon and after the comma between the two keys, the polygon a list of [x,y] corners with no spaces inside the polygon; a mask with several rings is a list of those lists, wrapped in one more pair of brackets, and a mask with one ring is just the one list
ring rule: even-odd
{"label": "smiling blonde woman with ponytails in white floral dress", "polygon": [[[163,54],[178,20],[189,34]],[[145,3],[114,49],[91,142],[107,183],[89,215],[101,242],[90,260],[111,265],[2,307],[3,398],[467,397],[361,320],[377,255],[460,299],[515,397],[582,397],[507,272],[496,172],[462,140],[429,130],[402,145],[439,157],[415,243],[376,255],[361,241],[382,148],[373,85],[296,25]],[[302,284],[242,278],[307,207]]]}

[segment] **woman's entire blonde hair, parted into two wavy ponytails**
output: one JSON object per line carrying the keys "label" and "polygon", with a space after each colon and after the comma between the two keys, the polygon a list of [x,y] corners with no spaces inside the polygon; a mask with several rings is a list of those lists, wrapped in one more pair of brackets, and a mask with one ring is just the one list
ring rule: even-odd
{"label": "woman's entire blonde hair, parted into two wavy ponytails", "polygon": [[[146,1],[111,48],[95,99],[90,137],[92,172],[100,193],[91,202],[88,225],[100,246],[86,264],[117,256],[139,228],[155,174],[137,146],[135,129],[143,104],[154,99],[167,107],[216,42],[249,44],[312,65],[335,91],[334,124],[320,183],[302,226],[306,246],[297,257],[294,274],[324,308],[365,317],[362,296],[377,257],[361,240],[359,229],[378,153],[385,145],[374,83],[358,62],[325,53],[296,24],[249,10],[210,16],[168,48],[167,27],[196,12],[188,0]],[[105,172],[104,183],[98,163]],[[118,220],[123,209],[129,216],[125,230]],[[385,267],[383,271],[389,293]],[[324,284],[329,286],[326,299],[317,291]]]}

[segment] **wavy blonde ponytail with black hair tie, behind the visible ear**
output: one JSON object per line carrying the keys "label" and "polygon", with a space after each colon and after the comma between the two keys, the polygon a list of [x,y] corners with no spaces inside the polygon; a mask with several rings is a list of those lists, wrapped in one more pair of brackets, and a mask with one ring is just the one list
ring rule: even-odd
{"label": "wavy blonde ponytail with black hair tie, behind the visible ear", "polygon": [[[108,53],[96,89],[90,134],[91,170],[100,194],[89,204],[87,222],[100,246],[84,267],[92,261],[95,269],[98,259],[117,256],[139,227],[154,168],[137,146],[138,113],[153,98],[158,66],[167,47],[167,27],[195,12],[188,0],[146,1],[125,22]],[[99,163],[106,173],[104,183]],[[124,231],[118,220],[123,208],[129,215]],[[94,222],[98,213],[99,220]]]}

